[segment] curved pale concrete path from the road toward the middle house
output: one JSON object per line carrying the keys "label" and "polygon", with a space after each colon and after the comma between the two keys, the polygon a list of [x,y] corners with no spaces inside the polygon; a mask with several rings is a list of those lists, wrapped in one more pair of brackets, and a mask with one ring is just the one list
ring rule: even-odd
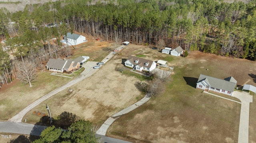
{"label": "curved pale concrete path from the road toward the middle house", "polygon": [[138,102],[132,104],[131,106],[117,112],[116,114],[112,115],[110,118],[108,118],[100,127],[100,129],[98,129],[98,131],[96,131],[96,134],[98,135],[106,135],[106,132],[108,130],[108,127],[119,117],[121,117],[124,114],[127,114],[129,112],[131,112],[132,110],[140,107],[141,105],[143,105],[144,103],[146,103],[151,97],[148,96],[148,94],[146,94],[146,96],[144,96],[144,98],[142,98],[141,100],[139,100]]}

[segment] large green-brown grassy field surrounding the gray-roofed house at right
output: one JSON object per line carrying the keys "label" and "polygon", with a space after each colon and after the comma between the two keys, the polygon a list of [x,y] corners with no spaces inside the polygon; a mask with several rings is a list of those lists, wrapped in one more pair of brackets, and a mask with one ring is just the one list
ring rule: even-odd
{"label": "large green-brown grassy field surrounding the gray-roofed house at right", "polygon": [[[256,63],[194,52],[186,58],[170,58],[169,65],[175,69],[165,91],[117,119],[107,135],[134,143],[236,143],[241,104],[204,94],[195,88],[196,82],[205,74],[220,79],[233,76],[238,85],[250,79],[247,84],[256,86],[250,76],[256,73]],[[250,108],[250,141],[255,142],[255,104]]]}

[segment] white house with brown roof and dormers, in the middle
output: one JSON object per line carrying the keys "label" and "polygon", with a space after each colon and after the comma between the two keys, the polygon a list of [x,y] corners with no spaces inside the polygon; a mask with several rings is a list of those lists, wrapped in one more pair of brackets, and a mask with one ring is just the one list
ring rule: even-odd
{"label": "white house with brown roof and dormers, in the middle", "polygon": [[139,57],[129,56],[124,62],[126,67],[133,68],[136,71],[152,71],[156,69],[156,63],[147,59],[142,59]]}

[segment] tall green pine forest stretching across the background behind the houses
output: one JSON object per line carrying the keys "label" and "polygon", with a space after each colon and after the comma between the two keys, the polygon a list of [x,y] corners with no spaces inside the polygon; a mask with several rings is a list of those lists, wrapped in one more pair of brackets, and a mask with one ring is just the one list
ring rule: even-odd
{"label": "tall green pine forest stretching across the background behind the houses", "polygon": [[[256,0],[63,0],[0,10],[0,39],[15,59],[43,67],[50,58],[68,56],[59,43],[67,32],[110,42],[181,46],[256,61]],[[46,26],[46,25],[57,26]],[[49,39],[58,38],[55,45]],[[0,48],[0,82],[11,82],[14,60]],[[15,74],[14,74],[15,75]]]}

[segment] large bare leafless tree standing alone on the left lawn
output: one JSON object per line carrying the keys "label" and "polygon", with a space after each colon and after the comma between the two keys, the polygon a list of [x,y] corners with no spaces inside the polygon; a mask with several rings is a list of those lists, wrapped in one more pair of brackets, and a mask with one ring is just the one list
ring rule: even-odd
{"label": "large bare leafless tree standing alone on the left lawn", "polygon": [[34,81],[36,77],[35,64],[28,61],[28,59],[25,59],[23,61],[16,61],[15,67],[17,71],[17,78],[22,82],[29,83],[31,87],[31,82]]}

